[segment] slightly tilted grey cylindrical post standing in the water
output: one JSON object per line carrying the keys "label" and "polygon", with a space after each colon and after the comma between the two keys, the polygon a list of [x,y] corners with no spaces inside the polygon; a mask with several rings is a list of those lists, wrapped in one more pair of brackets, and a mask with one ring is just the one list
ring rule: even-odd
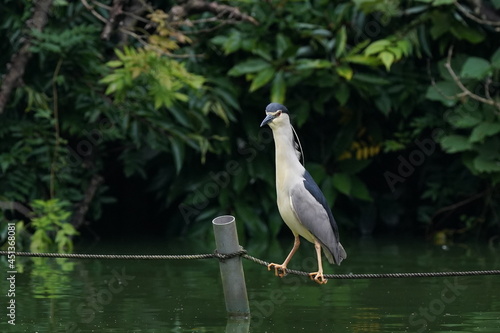
{"label": "slightly tilted grey cylindrical post standing in the water", "polygon": [[[234,216],[224,215],[212,221],[217,252],[230,254],[241,250]],[[222,288],[229,317],[249,317],[247,287],[241,257],[219,261]]]}

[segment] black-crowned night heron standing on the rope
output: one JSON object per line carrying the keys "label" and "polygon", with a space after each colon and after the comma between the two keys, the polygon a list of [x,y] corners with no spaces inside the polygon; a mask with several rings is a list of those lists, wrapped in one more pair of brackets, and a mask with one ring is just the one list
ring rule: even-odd
{"label": "black-crowned night heron standing on the rope", "polygon": [[[337,224],[325,196],[309,172],[300,163],[301,152],[294,140],[294,129],[290,123],[288,109],[271,103],[266,107],[266,118],[260,126],[269,125],[273,130],[276,147],[276,193],[278,210],[283,221],[295,237],[293,248],[283,264],[269,264],[276,276],[283,277],[286,267],[300,245],[299,236],[314,243],[318,258],[318,271],[310,273],[312,280],[324,284],[321,249],[330,263],[347,258],[339,242]],[[298,140],[298,138],[297,138]]]}

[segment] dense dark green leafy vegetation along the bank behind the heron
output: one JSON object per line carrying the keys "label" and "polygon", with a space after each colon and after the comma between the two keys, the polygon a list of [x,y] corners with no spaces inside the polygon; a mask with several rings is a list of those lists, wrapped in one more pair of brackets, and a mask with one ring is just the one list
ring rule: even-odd
{"label": "dense dark green leafy vegetation along the bank behind the heron", "polygon": [[342,234],[498,239],[499,0],[5,0],[0,50],[0,239],[288,233],[271,101]]}

